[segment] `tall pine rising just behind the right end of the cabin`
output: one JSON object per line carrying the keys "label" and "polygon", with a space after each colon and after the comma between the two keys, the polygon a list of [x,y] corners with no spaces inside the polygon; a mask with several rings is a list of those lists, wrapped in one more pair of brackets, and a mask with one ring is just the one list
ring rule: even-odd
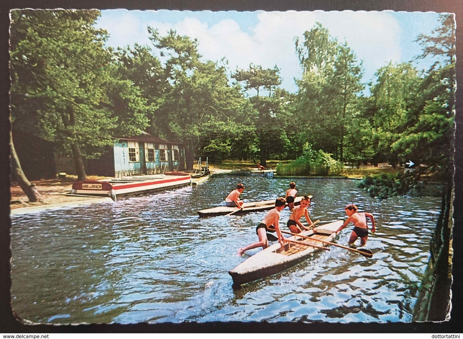
{"label": "tall pine rising just behind the right end of the cabin", "polygon": [[226,137],[217,135],[215,127],[222,122],[245,125],[255,111],[244,99],[240,86],[229,86],[225,61],[220,65],[201,61],[197,40],[175,31],[164,37],[150,27],[148,31],[154,46],[168,57],[165,74],[169,87],[155,113],[156,119],[169,137],[185,142],[187,169],[193,168],[200,145],[220,157],[229,154],[232,145]]}

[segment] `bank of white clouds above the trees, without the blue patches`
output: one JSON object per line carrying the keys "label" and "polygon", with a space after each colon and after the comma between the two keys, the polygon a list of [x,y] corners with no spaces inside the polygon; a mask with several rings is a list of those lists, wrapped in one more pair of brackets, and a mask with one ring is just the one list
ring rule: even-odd
{"label": "bank of white clouds above the trees, without the blue patches", "polygon": [[[106,11],[105,11],[106,12]],[[105,13],[99,25],[109,31],[110,45],[149,44],[146,24],[136,12],[111,16]],[[210,13],[211,16],[214,13]],[[281,68],[282,86],[296,91],[294,77],[300,77],[300,65],[294,47],[294,37],[301,37],[316,21],[325,26],[340,42],[347,41],[359,59],[363,60],[365,81],[376,69],[400,61],[400,30],[388,12],[257,12],[258,23],[249,31],[232,19],[223,19],[209,26],[191,13],[175,24],[151,21],[148,25],[165,34],[171,28],[181,35],[197,38],[199,51],[205,59],[217,61],[226,57],[231,71],[247,68],[250,63]]]}

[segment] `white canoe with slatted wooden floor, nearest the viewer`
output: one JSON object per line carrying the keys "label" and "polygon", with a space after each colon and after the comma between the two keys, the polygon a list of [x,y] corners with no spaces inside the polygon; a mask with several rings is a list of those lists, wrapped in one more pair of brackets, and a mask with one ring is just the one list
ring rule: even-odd
{"label": "white canoe with slatted wooden floor, nearest the viewer", "polygon": [[[336,234],[332,234],[332,232],[336,231],[342,224],[343,220],[338,220],[315,227],[315,233],[310,230],[301,232],[301,234],[311,236],[315,239],[332,242],[336,238]],[[320,241],[315,242],[298,236],[291,236],[287,239],[309,242],[318,246],[326,246]],[[325,250],[309,245],[294,243],[288,243],[282,249],[280,243],[276,243],[247,258],[244,262],[239,264],[233,270],[230,270],[228,273],[232,276],[233,287],[240,288],[243,284],[251,283],[253,281],[263,279],[266,276],[272,276],[287,270],[288,268],[303,262],[316,251]]]}

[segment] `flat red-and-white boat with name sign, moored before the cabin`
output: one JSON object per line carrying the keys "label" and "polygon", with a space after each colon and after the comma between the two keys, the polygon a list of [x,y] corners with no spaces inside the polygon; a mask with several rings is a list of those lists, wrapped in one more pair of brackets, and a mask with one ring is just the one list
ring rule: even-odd
{"label": "flat red-and-white boat with name sign, moored before the cabin", "polygon": [[116,196],[157,192],[190,184],[188,173],[166,172],[152,176],[77,181],[72,184],[71,194],[109,196],[116,201]]}

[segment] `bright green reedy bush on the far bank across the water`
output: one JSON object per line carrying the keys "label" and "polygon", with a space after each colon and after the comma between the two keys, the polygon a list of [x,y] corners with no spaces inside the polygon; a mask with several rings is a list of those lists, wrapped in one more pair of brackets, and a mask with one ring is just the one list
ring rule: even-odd
{"label": "bright green reedy bush on the far bank across the water", "polygon": [[304,155],[291,163],[279,163],[276,174],[279,176],[338,176],[343,170],[341,163],[332,158],[330,153],[314,151],[310,144],[305,144]]}

